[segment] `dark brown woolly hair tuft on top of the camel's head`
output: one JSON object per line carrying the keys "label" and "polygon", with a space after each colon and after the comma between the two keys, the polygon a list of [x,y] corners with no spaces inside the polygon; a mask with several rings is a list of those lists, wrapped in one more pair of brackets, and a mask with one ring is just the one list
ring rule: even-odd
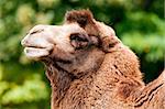
{"label": "dark brown woolly hair tuft on top of the camel's head", "polygon": [[87,24],[92,23],[92,13],[89,10],[80,11],[68,11],[65,14],[65,22],[73,23],[77,22],[81,28],[85,28]]}

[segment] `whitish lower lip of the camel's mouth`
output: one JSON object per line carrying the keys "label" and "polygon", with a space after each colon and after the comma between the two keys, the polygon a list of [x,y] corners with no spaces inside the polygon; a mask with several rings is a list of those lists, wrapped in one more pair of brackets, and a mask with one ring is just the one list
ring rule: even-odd
{"label": "whitish lower lip of the camel's mouth", "polygon": [[25,47],[24,53],[29,58],[40,58],[50,54],[47,48]]}

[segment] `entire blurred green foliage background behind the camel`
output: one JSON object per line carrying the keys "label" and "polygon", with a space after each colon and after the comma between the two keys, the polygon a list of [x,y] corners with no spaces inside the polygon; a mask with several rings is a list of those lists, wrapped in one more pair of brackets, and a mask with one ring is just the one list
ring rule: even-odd
{"label": "entire blurred green foliage background behind the camel", "polygon": [[90,9],[140,57],[144,81],[164,69],[164,0],[0,0],[0,109],[48,109],[44,66],[20,41],[35,24],[62,24],[67,10]]}

